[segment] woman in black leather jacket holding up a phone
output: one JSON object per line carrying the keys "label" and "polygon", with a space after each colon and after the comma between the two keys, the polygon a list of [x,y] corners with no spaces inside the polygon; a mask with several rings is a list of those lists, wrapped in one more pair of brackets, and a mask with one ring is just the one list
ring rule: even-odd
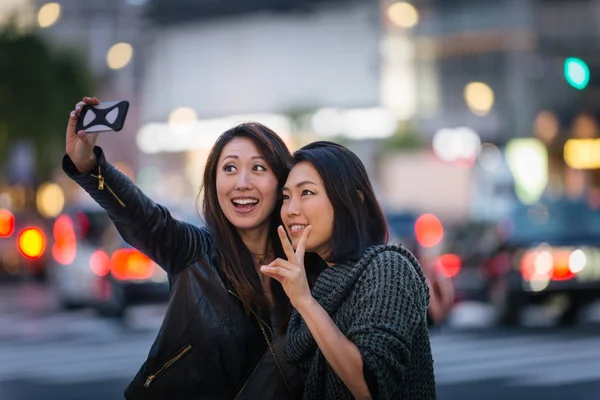
{"label": "woman in black leather jacket holding up a phone", "polygon": [[[169,276],[163,324],[125,390],[137,399],[292,399],[302,395],[283,345],[291,312],[281,284],[257,268],[284,256],[281,186],[291,156],[258,123],[234,127],[212,148],[203,177],[206,226],[179,221],[76,132],[71,113],[64,171],[100,205],[123,238]],[[199,133],[201,134],[201,133]],[[267,279],[265,279],[267,278]]]}

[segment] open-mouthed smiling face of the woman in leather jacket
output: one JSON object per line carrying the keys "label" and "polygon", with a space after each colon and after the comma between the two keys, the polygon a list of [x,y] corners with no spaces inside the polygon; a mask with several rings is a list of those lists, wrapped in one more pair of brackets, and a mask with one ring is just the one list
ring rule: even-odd
{"label": "open-mouthed smiling face of the woman in leather jacket", "polygon": [[217,166],[217,198],[229,222],[240,231],[267,228],[277,202],[277,178],[254,142],[231,140]]}

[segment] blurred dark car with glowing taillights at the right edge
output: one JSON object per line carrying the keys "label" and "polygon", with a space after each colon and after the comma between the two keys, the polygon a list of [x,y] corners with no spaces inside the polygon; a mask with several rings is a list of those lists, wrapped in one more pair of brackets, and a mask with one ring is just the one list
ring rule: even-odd
{"label": "blurred dark car with glowing taillights at the right edge", "polygon": [[517,207],[503,226],[506,238],[484,265],[499,322],[518,324],[525,306],[562,297],[559,322],[574,323],[600,297],[600,211],[551,201]]}

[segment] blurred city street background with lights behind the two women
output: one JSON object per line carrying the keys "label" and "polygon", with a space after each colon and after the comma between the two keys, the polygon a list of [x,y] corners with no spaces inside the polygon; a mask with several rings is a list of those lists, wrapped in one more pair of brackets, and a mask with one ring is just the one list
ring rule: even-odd
{"label": "blurred city street background with lights behind the two women", "polygon": [[599,10],[0,1],[0,400],[122,399],[166,310],[172,276],[102,208],[139,211],[124,201],[133,191],[81,167],[111,194],[96,203],[96,182],[84,190],[65,168],[84,96],[105,104],[84,107],[81,127],[103,110],[114,128],[91,126],[107,129],[106,162],[196,225],[211,148],[240,122],[291,153],[343,144],[390,242],[448,284],[454,308],[431,330],[440,400],[600,399]]}

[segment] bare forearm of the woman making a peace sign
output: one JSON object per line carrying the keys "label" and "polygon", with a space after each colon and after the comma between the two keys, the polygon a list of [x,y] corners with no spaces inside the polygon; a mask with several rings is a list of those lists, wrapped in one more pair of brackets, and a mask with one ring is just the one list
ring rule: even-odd
{"label": "bare forearm of the woman making a peace sign", "polygon": [[363,359],[358,347],[339,330],[317,301],[298,307],[323,356],[348,387],[354,398],[371,399],[363,374]]}

